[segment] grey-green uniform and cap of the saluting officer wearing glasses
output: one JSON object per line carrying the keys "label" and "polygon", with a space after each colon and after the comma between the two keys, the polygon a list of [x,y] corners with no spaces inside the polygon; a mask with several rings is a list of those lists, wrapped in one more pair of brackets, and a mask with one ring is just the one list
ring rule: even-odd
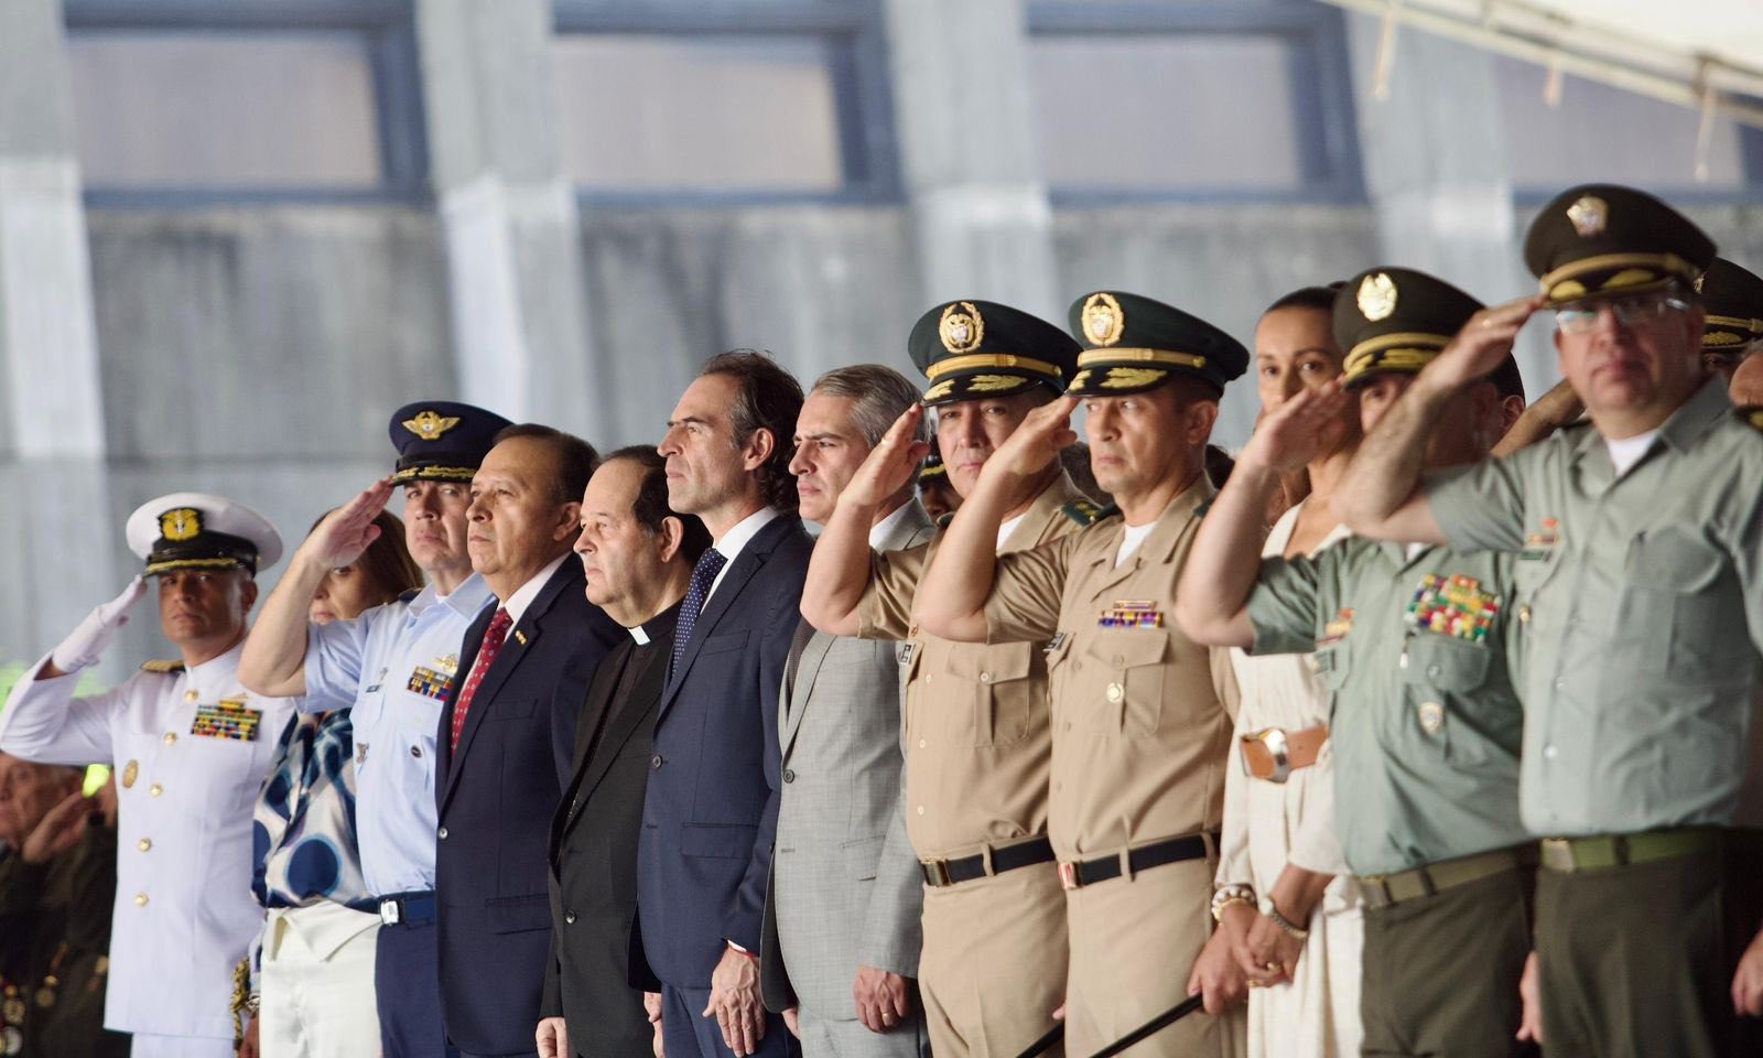
{"label": "grey-green uniform and cap of the saluting officer wearing glasses", "polygon": [[[1527,245],[1555,303],[1673,282],[1692,296],[1712,256],[1620,187],[1566,192]],[[1551,836],[1536,940],[1550,1051],[1751,1054],[1728,987],[1763,915],[1756,875],[1730,882],[1724,857],[1763,822],[1763,434],[1710,379],[1640,444],[1618,474],[1578,427],[1432,474],[1425,494],[1453,547],[1516,554],[1521,815]]]}

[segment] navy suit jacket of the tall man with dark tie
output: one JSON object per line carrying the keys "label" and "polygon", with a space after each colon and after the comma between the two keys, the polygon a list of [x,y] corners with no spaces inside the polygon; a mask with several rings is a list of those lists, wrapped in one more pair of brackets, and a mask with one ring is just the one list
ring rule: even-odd
{"label": "navy suit jacket of the tall man with dark tie", "polygon": [[661,693],[636,910],[649,965],[673,987],[709,987],[730,940],[760,952],[777,831],[777,691],[813,548],[793,511],[760,529]]}

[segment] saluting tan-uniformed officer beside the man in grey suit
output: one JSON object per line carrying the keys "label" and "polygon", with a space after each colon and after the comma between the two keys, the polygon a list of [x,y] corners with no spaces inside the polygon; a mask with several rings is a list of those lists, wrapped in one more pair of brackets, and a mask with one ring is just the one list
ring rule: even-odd
{"label": "saluting tan-uniformed officer beside the man in grey suit", "polygon": [[[1054,400],[1077,360],[1060,328],[993,302],[950,302],[908,340],[931,388],[936,436],[956,492],[1035,407]],[[911,622],[938,540],[873,554],[869,525],[926,455],[920,407],[890,432],[901,473],[876,488],[866,464],[815,547],[802,615],[820,631],[904,640],[906,832],[924,864],[919,986],[938,1058],[1014,1058],[1053,1026],[1065,991],[1065,899],[1047,843],[1047,637],[957,644]],[[1012,481],[987,554],[1019,552],[1088,525],[1095,506],[1058,464]],[[1049,1051],[1058,1054],[1058,1049]]]}

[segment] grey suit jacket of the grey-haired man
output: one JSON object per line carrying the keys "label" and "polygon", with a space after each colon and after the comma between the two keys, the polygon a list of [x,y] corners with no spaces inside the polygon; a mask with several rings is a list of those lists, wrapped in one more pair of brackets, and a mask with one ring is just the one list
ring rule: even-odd
{"label": "grey suit jacket of the grey-haired man", "polygon": [[[913,499],[882,550],[934,531]],[[772,1010],[853,1019],[857,966],[919,975],[924,875],[906,841],[899,649],[816,631],[779,695],[783,797],[760,954]]]}

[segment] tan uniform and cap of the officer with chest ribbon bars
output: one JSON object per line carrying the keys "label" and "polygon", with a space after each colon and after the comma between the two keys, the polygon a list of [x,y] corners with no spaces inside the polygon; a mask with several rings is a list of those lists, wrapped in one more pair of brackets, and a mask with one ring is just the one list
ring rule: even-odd
{"label": "tan uniform and cap of the officer with chest ribbon bars", "polygon": [[[1174,379],[1222,390],[1248,365],[1248,351],[1218,328],[1127,293],[1079,298],[1072,332],[1091,346],[1070,386],[1082,397],[1130,397]],[[1171,614],[1213,495],[1199,473],[1153,522],[1128,529],[1098,518],[1000,555],[986,600],[989,638],[1047,644],[1047,827],[1067,887],[1072,1054],[1093,1054],[1179,1003],[1186,968],[1211,936],[1236,675],[1227,651],[1197,645]],[[1128,533],[1135,547],[1123,550]],[[1241,1012],[1194,1016],[1132,1053],[1222,1058],[1239,1054],[1245,1035]]]}

